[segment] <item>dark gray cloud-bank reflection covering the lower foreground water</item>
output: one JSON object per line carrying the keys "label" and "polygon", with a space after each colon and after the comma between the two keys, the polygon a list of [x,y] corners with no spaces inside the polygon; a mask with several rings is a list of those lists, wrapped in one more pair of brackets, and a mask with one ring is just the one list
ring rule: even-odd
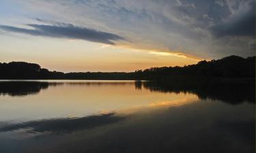
{"label": "dark gray cloud-bank reflection covering the lower foreground water", "polygon": [[[127,117],[118,114],[104,115],[110,122],[96,118],[79,120],[79,124],[93,124],[94,128],[83,130],[71,128],[72,133],[55,135],[50,133],[26,139],[1,141],[0,151],[6,152],[248,152],[255,147],[254,110],[249,104],[232,107],[225,103],[192,103],[186,107],[164,107],[146,112],[135,112]],[[122,114],[120,114],[122,115]],[[114,118],[113,118],[114,117]],[[48,122],[48,121],[47,121]],[[68,126],[61,120],[25,126],[35,131],[52,131]],[[94,124],[96,123],[96,124]],[[70,125],[71,124],[71,125]],[[55,125],[58,127],[56,129]],[[85,124],[84,124],[85,125]],[[40,127],[42,126],[42,127]],[[87,125],[85,125],[86,127]],[[47,128],[46,128],[47,127]],[[73,127],[73,126],[72,126]],[[81,126],[80,126],[81,127]],[[56,132],[56,131],[55,131]],[[10,133],[8,134],[11,135]],[[3,138],[2,138],[3,139]],[[1,140],[1,137],[0,137]],[[8,146],[9,144],[9,146]],[[10,146],[10,144],[12,144]]]}

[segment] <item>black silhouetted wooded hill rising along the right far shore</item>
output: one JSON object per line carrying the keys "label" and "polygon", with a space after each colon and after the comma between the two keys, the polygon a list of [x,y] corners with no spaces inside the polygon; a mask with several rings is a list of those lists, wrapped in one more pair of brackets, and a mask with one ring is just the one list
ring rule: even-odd
{"label": "black silhouetted wooded hill rising along the right far shore", "polygon": [[220,60],[200,61],[195,65],[184,67],[152,67],[137,70],[144,80],[159,80],[173,75],[221,77],[221,78],[255,78],[255,56],[242,58],[227,56]]}

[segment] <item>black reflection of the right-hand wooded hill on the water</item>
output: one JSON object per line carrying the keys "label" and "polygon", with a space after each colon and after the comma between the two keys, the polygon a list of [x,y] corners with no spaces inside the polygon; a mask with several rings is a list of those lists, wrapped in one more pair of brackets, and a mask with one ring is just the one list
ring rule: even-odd
{"label": "black reflection of the right-hand wooded hill on the water", "polygon": [[153,92],[190,92],[200,99],[221,100],[227,103],[255,103],[255,80],[216,80],[206,78],[176,79],[168,82],[143,82]]}

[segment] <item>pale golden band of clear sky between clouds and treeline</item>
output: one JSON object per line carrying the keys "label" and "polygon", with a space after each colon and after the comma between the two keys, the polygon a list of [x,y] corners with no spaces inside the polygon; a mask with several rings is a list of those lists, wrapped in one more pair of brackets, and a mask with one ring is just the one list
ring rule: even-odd
{"label": "pale golden band of clear sky between clouds and treeline", "polygon": [[64,72],[135,71],[150,67],[184,66],[199,61],[198,58],[172,52],[132,49],[74,39],[32,38],[0,37],[0,61],[38,63],[51,71]]}

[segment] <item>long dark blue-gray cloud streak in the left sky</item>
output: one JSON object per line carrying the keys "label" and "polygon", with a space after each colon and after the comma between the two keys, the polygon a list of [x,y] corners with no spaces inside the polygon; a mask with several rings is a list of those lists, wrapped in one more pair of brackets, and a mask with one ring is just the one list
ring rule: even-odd
{"label": "long dark blue-gray cloud streak in the left sky", "polygon": [[94,29],[88,29],[85,27],[76,27],[73,24],[27,24],[33,29],[24,29],[6,25],[0,25],[0,29],[4,31],[10,31],[14,33],[25,33],[28,35],[57,37],[67,39],[83,39],[87,41],[94,41],[103,44],[115,45],[113,41],[124,40],[124,37],[113,33],[106,33],[102,31],[96,31]]}

